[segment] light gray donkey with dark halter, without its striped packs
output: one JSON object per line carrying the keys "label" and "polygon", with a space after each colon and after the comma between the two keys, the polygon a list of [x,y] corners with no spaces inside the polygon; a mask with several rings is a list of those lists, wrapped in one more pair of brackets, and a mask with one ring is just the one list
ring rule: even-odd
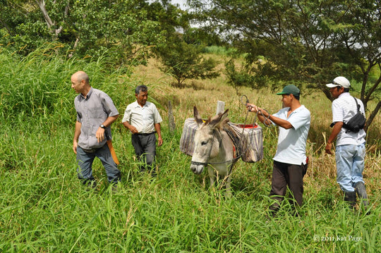
{"label": "light gray donkey with dark halter, without its striped packs", "polygon": [[230,173],[236,159],[234,159],[234,144],[224,130],[224,128],[229,128],[227,124],[229,121],[227,118],[228,111],[208,118],[204,122],[198,113],[198,109],[194,106],[193,112],[198,130],[195,132],[191,170],[193,173],[200,174],[207,166],[211,187],[216,178],[224,176],[226,197],[231,197]]}

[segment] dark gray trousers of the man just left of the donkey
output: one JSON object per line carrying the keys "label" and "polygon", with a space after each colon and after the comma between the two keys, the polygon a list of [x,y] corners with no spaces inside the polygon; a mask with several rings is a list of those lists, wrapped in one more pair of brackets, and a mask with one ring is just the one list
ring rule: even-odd
{"label": "dark gray trousers of the man just left of the donkey", "polygon": [[131,141],[135,149],[135,154],[138,156],[139,161],[145,163],[140,166],[140,171],[145,168],[152,170],[155,173],[155,156],[156,156],[156,135],[155,132],[150,134],[135,134],[132,135]]}

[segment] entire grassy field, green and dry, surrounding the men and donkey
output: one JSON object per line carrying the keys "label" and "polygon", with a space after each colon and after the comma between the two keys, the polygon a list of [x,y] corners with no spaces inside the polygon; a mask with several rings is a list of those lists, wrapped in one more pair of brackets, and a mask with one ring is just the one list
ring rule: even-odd
{"label": "entire grassy field, green and dry, surrounding the men and donkey", "polygon": [[[270,112],[279,96],[270,90],[236,91],[216,80],[189,80],[186,87],[159,72],[159,63],[124,70],[103,68],[107,59],[62,61],[54,51],[16,58],[1,52],[0,251],[1,252],[377,252],[380,238],[380,116],[368,134],[365,183],[371,213],[351,211],[335,183],[334,157],[322,153],[329,135],[330,102],[319,92],[301,99],[312,113],[311,157],[300,216],[284,202],[279,216],[267,218],[272,156],[277,130],[263,129],[265,158],[239,161],[232,175],[233,197],[223,187],[208,189],[207,173],[194,175],[190,157],[179,151],[193,105],[205,118],[225,101],[234,123],[245,121],[239,98]],[[122,182],[111,193],[99,160],[93,169],[98,191],[80,185],[72,151],[75,92],[70,76],[85,70],[92,85],[107,92],[123,114],[133,87],[145,84],[164,118],[164,144],[157,150],[159,175],[138,173],[131,134],[114,123],[114,147]],[[176,131],[168,128],[167,104],[174,106]],[[253,115],[248,121],[253,122]]]}

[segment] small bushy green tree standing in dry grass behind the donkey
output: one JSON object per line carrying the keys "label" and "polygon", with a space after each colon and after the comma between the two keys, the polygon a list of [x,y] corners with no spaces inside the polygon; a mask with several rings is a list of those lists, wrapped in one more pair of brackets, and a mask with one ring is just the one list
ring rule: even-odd
{"label": "small bushy green tree standing in dry grass behind the donkey", "polygon": [[173,76],[182,86],[186,79],[217,78],[216,61],[202,56],[202,46],[186,42],[170,42],[161,44],[155,49],[162,60],[162,71]]}

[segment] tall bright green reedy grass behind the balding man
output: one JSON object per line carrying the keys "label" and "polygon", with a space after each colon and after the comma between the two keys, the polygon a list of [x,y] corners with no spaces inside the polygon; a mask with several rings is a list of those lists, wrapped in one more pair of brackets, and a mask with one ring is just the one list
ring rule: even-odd
{"label": "tall bright green reedy grass behind the balding man", "polygon": [[[128,70],[109,70],[106,58],[85,61],[80,58],[65,60],[56,55],[61,44],[46,44],[28,56],[18,56],[4,49],[0,52],[0,116],[4,121],[17,122],[20,118],[49,118],[52,123],[73,122],[73,90],[70,78],[78,70],[90,75],[90,82],[105,92],[119,89],[121,97],[128,85],[120,76]],[[66,92],[63,92],[66,91]],[[127,92],[127,94],[132,92]]]}

